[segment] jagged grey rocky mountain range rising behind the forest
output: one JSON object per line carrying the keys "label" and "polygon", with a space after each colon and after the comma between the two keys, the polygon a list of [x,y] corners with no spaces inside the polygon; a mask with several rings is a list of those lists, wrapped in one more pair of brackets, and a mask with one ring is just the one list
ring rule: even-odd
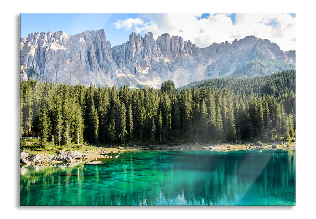
{"label": "jagged grey rocky mountain range rising behind the forest", "polygon": [[247,36],[199,48],[182,37],[164,33],[154,39],[131,33],[111,46],[104,30],[68,35],[63,31],[31,33],[20,39],[20,79],[70,85],[159,88],[218,77],[253,77],[294,69],[296,51],[282,51],[268,39]]}

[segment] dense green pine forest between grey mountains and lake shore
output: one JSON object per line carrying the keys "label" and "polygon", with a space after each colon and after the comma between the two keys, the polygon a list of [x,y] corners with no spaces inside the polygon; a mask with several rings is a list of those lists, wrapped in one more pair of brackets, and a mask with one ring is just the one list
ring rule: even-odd
{"label": "dense green pine forest between grey mountains and lake shore", "polygon": [[42,145],[292,140],[296,71],[175,88],[20,81],[20,137]]}

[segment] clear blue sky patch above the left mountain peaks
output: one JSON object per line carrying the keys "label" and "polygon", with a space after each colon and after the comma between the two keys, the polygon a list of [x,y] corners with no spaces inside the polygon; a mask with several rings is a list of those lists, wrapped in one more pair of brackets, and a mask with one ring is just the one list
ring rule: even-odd
{"label": "clear blue sky patch above the left mountain peaks", "polygon": [[33,32],[64,31],[68,35],[74,35],[86,30],[105,30],[106,40],[112,46],[122,44],[128,40],[131,32],[124,29],[116,29],[114,22],[118,19],[136,18],[137,14],[106,14],[106,13],[59,13],[59,14],[21,14],[21,34],[23,38]]}

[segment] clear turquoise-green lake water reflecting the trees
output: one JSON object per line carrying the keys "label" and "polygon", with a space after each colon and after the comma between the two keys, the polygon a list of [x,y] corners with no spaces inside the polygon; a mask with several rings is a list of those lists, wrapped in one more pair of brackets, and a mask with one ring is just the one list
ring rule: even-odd
{"label": "clear turquoise-green lake water reflecting the trees", "polygon": [[21,165],[20,205],[296,205],[295,150],[143,151],[98,161],[106,163]]}

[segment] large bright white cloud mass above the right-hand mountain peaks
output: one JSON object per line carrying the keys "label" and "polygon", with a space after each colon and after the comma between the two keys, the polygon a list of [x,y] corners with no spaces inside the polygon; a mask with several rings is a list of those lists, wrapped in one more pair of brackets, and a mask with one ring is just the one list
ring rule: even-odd
{"label": "large bright white cloud mass above the right-hand mountain peaks", "polygon": [[[283,51],[296,49],[296,18],[289,14],[237,13],[235,24],[228,17],[230,14],[210,14],[207,19],[197,20],[201,15],[202,13],[139,14],[136,19],[118,20],[114,25],[117,29],[122,27],[136,33],[150,31],[155,38],[162,33],[182,36],[184,40],[190,40],[199,47],[226,40],[232,43],[234,39],[255,35],[278,44]],[[271,21],[277,24],[268,25]]]}

